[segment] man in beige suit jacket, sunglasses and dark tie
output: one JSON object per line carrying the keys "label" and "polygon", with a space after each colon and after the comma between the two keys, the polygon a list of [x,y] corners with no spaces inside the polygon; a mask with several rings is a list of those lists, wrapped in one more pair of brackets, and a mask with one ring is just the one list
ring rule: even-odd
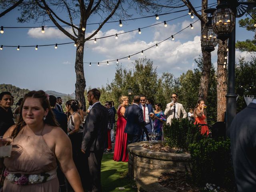
{"label": "man in beige suit jacket, sunglasses and dark tie", "polygon": [[[166,109],[164,111],[164,114],[167,117],[166,123],[171,124],[171,120],[173,118],[186,118],[187,112],[185,111],[182,104],[178,103],[178,94],[173,93],[172,94],[172,102],[168,103],[166,105]],[[182,115],[182,116],[181,116]]]}

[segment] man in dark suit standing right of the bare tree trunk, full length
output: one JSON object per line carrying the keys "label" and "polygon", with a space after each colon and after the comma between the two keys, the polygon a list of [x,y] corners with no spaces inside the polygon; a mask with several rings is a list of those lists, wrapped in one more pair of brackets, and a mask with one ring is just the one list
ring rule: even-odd
{"label": "man in dark suit standing right of the bare tree trunk, full length", "polygon": [[108,110],[100,104],[100,91],[96,88],[87,92],[87,100],[92,106],[84,124],[82,152],[86,155],[86,168],[89,171],[87,180],[88,190],[101,192],[100,167],[103,150],[108,140]]}

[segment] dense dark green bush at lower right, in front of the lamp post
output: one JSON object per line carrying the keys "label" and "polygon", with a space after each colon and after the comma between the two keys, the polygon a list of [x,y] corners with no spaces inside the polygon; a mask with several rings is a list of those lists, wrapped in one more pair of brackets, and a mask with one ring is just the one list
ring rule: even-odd
{"label": "dense dark green bush at lower right, in front of the lamp post", "polygon": [[200,186],[214,183],[225,188],[234,187],[234,172],[230,154],[230,140],[203,138],[190,144],[192,180]]}

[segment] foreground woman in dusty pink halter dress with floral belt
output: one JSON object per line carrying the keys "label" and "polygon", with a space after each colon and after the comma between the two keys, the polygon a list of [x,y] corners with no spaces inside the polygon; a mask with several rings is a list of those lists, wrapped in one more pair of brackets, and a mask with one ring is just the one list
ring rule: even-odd
{"label": "foreground woman in dusty pink halter dress with floral belt", "polygon": [[58,192],[57,160],[74,191],[83,191],[71,142],[58,127],[44,91],[25,95],[18,123],[4,136],[14,140],[11,157],[4,158],[3,191]]}

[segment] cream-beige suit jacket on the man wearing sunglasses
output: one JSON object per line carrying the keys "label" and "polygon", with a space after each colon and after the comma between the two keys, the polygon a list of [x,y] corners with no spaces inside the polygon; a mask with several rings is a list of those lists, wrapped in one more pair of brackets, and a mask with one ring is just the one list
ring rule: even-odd
{"label": "cream-beige suit jacket on the man wearing sunglasses", "polygon": [[[170,107],[171,103],[168,103],[166,105],[166,108],[164,110],[164,114],[166,115],[167,119],[166,119],[166,123],[171,123],[171,120],[173,119],[173,112],[174,112],[174,106]],[[177,111],[178,115],[177,118],[186,118],[187,117],[187,112],[185,111],[184,107],[182,104],[180,103],[176,103],[178,105],[178,107],[176,106],[175,110]]]}

